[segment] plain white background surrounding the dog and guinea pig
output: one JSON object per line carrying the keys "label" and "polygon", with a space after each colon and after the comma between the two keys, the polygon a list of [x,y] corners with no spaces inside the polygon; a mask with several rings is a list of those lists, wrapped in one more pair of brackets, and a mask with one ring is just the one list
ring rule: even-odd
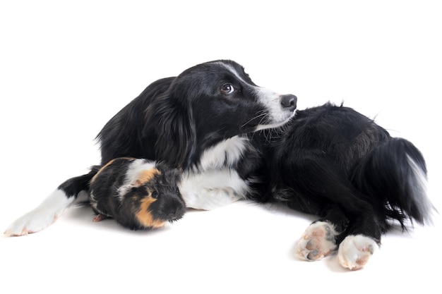
{"label": "plain white background surrounding the dog and guinea pig", "polygon": [[[299,109],[344,101],[412,140],[440,211],[439,2],[0,1],[0,229],[99,163],[95,135],[150,82],[214,59],[296,94]],[[354,272],[335,255],[293,257],[313,220],[240,202],[132,232],[76,208],[40,233],[0,238],[1,281],[8,293],[440,290],[439,215],[385,235]]]}

